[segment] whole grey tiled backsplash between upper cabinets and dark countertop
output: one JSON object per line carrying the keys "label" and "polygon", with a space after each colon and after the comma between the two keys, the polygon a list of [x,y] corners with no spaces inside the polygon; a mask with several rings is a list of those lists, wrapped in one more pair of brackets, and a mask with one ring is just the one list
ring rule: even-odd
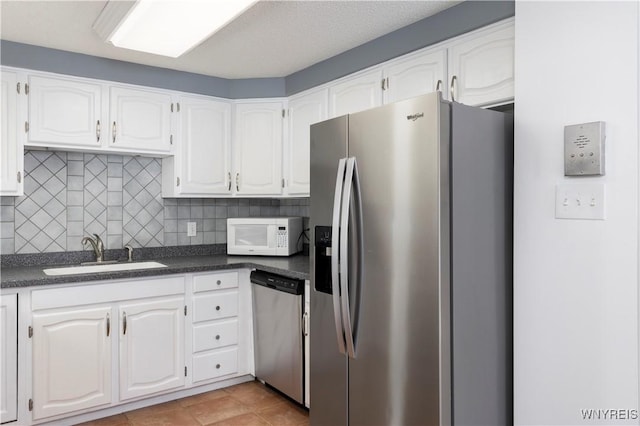
{"label": "whole grey tiled backsplash between upper cabinets and dark countertop", "polygon": [[[163,199],[158,158],[26,151],[23,197],[0,198],[0,253],[227,242],[228,217],[309,216],[308,198]],[[187,222],[197,235],[187,237]]]}

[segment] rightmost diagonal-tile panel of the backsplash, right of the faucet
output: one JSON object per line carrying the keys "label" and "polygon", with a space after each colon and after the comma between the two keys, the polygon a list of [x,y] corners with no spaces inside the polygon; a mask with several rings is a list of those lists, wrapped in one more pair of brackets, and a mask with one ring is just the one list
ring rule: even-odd
{"label": "rightmost diagonal-tile panel of the backsplash, right of the faucet", "polygon": [[134,247],[164,245],[162,166],[157,158],[124,157],[122,238]]}

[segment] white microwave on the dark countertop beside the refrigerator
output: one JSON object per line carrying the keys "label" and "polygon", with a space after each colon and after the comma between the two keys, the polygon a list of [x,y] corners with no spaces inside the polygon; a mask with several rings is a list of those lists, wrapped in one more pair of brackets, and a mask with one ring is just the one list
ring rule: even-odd
{"label": "white microwave on the dark countertop beside the refrigerator", "polygon": [[301,217],[227,219],[227,254],[290,256],[302,250]]}

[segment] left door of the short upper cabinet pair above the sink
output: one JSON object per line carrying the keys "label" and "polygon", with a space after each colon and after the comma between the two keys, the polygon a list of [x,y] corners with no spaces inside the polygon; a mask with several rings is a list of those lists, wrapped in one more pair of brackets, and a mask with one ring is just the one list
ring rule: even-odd
{"label": "left door of the short upper cabinet pair above the sink", "polygon": [[29,77],[28,145],[99,148],[107,134],[101,119],[100,84]]}

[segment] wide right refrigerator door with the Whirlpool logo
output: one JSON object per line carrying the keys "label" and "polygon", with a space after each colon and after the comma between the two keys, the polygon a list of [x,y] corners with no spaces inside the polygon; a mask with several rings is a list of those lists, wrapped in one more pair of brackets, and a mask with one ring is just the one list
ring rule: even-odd
{"label": "wide right refrigerator door with the Whirlpool logo", "polygon": [[357,356],[348,367],[351,426],[450,422],[449,138],[442,122],[448,106],[435,93],[349,117],[364,240]]}

